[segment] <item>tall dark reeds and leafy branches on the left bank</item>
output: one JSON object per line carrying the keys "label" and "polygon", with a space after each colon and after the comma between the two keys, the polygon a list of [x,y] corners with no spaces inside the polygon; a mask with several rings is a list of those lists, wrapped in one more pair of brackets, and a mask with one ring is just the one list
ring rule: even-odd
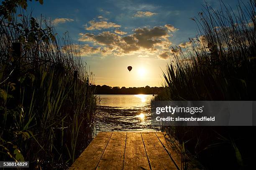
{"label": "tall dark reeds and leafy branches on the left bank", "polygon": [[93,138],[92,74],[67,34],[12,15],[0,18],[0,160],[65,168]]}

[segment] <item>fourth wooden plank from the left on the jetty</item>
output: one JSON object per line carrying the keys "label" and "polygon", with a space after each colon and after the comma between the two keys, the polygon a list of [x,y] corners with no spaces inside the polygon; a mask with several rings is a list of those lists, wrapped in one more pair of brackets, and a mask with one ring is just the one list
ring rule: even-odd
{"label": "fourth wooden plank from the left on the jetty", "polygon": [[152,170],[177,170],[155,133],[141,133]]}

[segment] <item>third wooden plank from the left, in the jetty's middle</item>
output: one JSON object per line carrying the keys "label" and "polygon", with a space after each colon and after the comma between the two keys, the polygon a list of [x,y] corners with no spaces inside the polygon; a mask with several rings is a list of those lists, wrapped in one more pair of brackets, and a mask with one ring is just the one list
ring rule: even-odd
{"label": "third wooden plank from the left, in the jetty's middle", "polygon": [[123,169],[150,169],[141,133],[127,133]]}

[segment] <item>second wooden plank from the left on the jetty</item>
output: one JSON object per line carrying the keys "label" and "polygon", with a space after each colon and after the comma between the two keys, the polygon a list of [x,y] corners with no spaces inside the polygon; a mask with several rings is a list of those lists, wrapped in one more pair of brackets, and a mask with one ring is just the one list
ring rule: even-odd
{"label": "second wooden plank from the left on the jetty", "polygon": [[122,170],[125,153],[126,133],[113,132],[97,170]]}

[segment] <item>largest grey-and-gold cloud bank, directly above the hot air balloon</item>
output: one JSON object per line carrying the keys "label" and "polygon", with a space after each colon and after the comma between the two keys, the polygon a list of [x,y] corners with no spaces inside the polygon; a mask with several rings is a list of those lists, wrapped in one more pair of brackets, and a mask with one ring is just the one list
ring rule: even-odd
{"label": "largest grey-and-gold cloud bank, directly above the hot air balloon", "polygon": [[[168,49],[172,44],[167,38],[170,35],[165,27],[137,28],[133,30],[133,33],[124,37],[117,34],[120,30],[116,31],[115,33],[105,31],[98,34],[80,33],[79,40],[91,42],[94,46],[100,47],[100,53],[102,55],[113,54],[117,56],[135,53],[138,53],[138,55],[142,53],[144,55],[152,55],[158,53],[160,50]],[[90,50],[96,51],[96,49]]]}

